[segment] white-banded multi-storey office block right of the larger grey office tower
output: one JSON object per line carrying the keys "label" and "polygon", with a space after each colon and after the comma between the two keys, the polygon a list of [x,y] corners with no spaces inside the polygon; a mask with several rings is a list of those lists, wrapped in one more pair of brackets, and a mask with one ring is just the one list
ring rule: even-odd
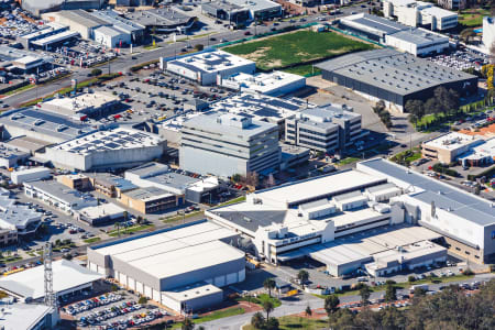
{"label": "white-banded multi-storey office block right of the larger grey office tower", "polygon": [[285,141],[314,151],[344,154],[362,138],[361,114],[342,106],[301,110],[285,121]]}

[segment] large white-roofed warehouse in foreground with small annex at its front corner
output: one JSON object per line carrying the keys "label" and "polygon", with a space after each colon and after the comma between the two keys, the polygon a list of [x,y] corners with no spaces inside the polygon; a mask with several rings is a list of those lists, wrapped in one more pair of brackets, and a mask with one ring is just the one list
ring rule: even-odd
{"label": "large white-roofed warehouse in foreground with small annex at its front corner", "polygon": [[205,220],[88,248],[88,267],[175,311],[194,314],[245,278],[234,231]]}

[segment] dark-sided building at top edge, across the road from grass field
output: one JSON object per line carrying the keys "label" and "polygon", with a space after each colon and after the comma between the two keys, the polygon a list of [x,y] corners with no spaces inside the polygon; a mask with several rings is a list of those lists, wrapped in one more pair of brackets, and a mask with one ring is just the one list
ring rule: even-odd
{"label": "dark-sided building at top edge, across the road from grass field", "polygon": [[245,7],[227,2],[226,0],[201,3],[201,12],[230,24],[244,24],[250,19],[250,10]]}

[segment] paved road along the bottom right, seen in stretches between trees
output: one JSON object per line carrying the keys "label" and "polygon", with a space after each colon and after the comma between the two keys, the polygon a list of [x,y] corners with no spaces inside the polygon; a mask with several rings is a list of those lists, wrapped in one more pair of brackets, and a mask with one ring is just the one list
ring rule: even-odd
{"label": "paved road along the bottom right, seen in stretches between trees", "polygon": [[[482,274],[482,275],[476,275],[473,279],[468,280],[468,282],[471,283],[473,280],[487,280],[487,279],[492,279],[492,278],[495,278],[495,274]],[[460,284],[460,283],[464,283],[464,282],[466,282],[466,280],[451,282],[449,284]],[[431,285],[429,285],[429,288],[431,290],[438,290],[440,288],[440,286],[444,286],[444,285],[449,285],[449,284],[446,284],[446,283],[431,284]],[[408,290],[398,290],[397,294],[405,295],[405,294],[409,294],[409,292]],[[370,299],[377,299],[382,295],[383,295],[383,292],[372,293]],[[340,299],[340,302],[353,302],[353,301],[360,301],[361,297],[360,296],[344,296],[344,297],[340,297],[339,299]],[[305,295],[302,299],[296,300],[296,301],[284,301],[284,300],[282,300],[282,301],[283,301],[283,305],[273,311],[272,315],[274,317],[282,317],[282,316],[302,312],[308,305],[311,307],[311,309],[323,308],[323,300],[316,298],[314,296],[310,296],[310,295]],[[205,329],[211,329],[211,330],[213,330],[213,329],[215,330],[219,330],[219,329],[238,330],[238,329],[241,329],[242,326],[244,326],[251,321],[251,317],[253,316],[253,314],[254,312],[250,312],[250,314],[244,314],[241,316],[223,318],[223,319],[202,323],[201,326],[204,326]]]}

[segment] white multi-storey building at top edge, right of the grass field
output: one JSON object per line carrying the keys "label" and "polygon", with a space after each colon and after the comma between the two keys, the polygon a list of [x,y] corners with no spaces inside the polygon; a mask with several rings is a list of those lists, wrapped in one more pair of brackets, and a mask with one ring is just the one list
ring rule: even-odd
{"label": "white multi-storey building at top edge, right of the grass field", "polygon": [[455,12],[416,0],[383,0],[385,18],[395,18],[408,26],[428,26],[431,31],[444,31],[458,25]]}

